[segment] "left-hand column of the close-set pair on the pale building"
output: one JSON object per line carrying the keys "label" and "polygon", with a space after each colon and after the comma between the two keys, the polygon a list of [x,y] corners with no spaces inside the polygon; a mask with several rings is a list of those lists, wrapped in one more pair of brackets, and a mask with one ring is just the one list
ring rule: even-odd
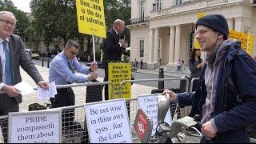
{"label": "left-hand column of the close-set pair on the pale building", "polygon": [[170,47],[169,47],[169,62],[168,65],[174,63],[174,48],[175,48],[175,26],[170,26]]}

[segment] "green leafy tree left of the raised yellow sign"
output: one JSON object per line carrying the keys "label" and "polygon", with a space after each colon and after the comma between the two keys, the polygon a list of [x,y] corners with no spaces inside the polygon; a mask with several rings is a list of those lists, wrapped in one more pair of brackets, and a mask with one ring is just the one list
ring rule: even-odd
{"label": "green leafy tree left of the raised yellow sign", "polygon": [[46,44],[54,38],[62,39],[64,44],[68,39],[78,39],[83,46],[82,37],[85,34],[78,33],[75,0],[33,0],[30,8],[34,15],[34,27],[42,33]]}

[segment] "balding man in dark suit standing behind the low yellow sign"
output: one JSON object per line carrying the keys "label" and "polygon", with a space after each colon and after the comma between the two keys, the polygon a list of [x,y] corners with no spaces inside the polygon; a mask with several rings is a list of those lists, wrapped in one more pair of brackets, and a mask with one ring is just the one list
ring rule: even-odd
{"label": "balding man in dark suit standing behind the low yellow sign", "polygon": [[[114,26],[106,33],[106,39],[104,40],[104,55],[103,64],[105,68],[104,82],[108,81],[108,63],[114,61],[121,61],[122,50],[126,49],[126,43],[124,37],[120,36],[125,28],[125,22],[121,19],[114,21]],[[109,99],[108,86],[105,86],[105,99]]]}

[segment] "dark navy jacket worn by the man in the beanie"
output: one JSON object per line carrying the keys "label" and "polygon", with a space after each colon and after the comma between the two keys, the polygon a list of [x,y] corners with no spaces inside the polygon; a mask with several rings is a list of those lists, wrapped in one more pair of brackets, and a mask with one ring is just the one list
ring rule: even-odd
{"label": "dark navy jacket worn by the man in the beanie", "polygon": [[[210,114],[218,129],[212,142],[250,142],[246,127],[256,122],[256,62],[233,42],[222,59],[218,73],[216,101]],[[179,106],[192,106],[189,116],[202,118],[206,102],[203,68],[195,93],[178,94]]]}

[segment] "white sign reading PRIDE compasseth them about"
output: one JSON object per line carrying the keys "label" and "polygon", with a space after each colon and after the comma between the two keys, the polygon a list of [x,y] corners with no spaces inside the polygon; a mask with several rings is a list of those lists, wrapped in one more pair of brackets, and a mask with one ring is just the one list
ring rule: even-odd
{"label": "white sign reading PRIDE compasseth them about", "polygon": [[9,143],[62,142],[61,110],[40,110],[9,113]]}

